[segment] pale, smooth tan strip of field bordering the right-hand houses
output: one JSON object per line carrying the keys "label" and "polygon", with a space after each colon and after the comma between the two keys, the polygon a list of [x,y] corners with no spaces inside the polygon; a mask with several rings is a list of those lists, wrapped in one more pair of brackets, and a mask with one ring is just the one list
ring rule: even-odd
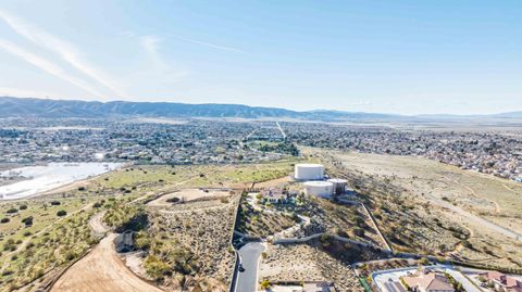
{"label": "pale, smooth tan strip of field bordering the right-hand houses", "polygon": [[[338,156],[346,167],[389,177],[421,193],[450,201],[475,214],[522,220],[522,183],[463,170],[421,157],[360,154]],[[520,229],[522,232],[522,229]]]}

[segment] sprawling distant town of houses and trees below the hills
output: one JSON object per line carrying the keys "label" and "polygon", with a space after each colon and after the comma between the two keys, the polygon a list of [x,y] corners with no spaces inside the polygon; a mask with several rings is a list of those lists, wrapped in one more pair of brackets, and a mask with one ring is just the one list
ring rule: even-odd
{"label": "sprawling distant town of houses and trees below the hills", "polygon": [[[0,119],[0,163],[227,164],[298,155],[297,144],[422,156],[522,182],[521,130],[204,119]],[[260,142],[261,141],[261,142]]]}

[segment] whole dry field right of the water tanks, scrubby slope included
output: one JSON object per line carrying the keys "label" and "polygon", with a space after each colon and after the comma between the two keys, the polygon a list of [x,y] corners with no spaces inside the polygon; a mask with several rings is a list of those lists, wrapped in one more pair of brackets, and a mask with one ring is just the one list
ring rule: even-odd
{"label": "whole dry field right of the water tanks, scrubby slope included", "polygon": [[521,186],[418,157],[308,151],[331,175],[349,180],[396,250],[522,266],[522,242],[513,236],[519,229],[483,221],[493,216],[517,223]]}

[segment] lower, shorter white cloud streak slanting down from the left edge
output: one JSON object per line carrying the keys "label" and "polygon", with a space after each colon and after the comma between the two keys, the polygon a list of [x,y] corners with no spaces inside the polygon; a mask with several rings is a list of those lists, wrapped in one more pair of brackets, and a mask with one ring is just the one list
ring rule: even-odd
{"label": "lower, shorter white cloud streak slanting down from the left edge", "polygon": [[75,77],[72,77],[70,76],[63,68],[61,68],[59,65],[41,58],[41,56],[38,56],[32,52],[28,52],[7,40],[3,40],[3,39],[0,39],[0,49],[3,49],[4,51],[11,53],[11,54],[14,54],[21,59],[23,59],[24,61],[26,61],[27,63],[58,77],[58,78],[61,78],[62,80],[65,80],[76,87],[79,87],[82,88],[83,90],[89,92],[90,94],[95,96],[95,97],[98,97],[98,98],[102,98],[103,94],[101,94],[100,92],[98,92],[95,88],[92,88],[90,85],[88,85],[87,82],[85,82],[84,80],[79,79],[79,78],[75,78]]}

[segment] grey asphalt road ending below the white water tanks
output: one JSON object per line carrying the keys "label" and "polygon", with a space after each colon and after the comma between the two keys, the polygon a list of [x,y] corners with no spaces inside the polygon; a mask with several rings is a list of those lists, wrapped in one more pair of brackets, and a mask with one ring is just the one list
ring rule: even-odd
{"label": "grey asphalt road ending below the white water tanks", "polygon": [[256,292],[259,258],[265,249],[259,242],[251,242],[239,249],[239,261],[245,271],[237,274],[236,292]]}

